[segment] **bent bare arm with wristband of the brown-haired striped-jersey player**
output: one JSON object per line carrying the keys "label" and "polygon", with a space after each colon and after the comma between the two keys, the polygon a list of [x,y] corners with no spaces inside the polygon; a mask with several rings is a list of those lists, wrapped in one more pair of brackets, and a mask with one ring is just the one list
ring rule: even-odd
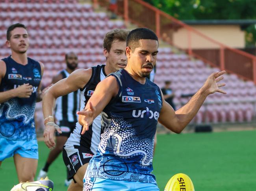
{"label": "bent bare arm with wristband of the brown-haired striped-jersey player", "polygon": [[[45,124],[48,122],[53,122],[53,110],[55,106],[56,99],[59,96],[67,95],[74,92],[80,88],[83,88],[89,79],[91,78],[92,69],[78,69],[72,72],[69,77],[59,80],[56,84],[52,85],[43,96],[43,114],[45,117]],[[57,127],[57,128],[56,128]],[[49,148],[55,146],[54,142],[54,132],[55,129],[61,133],[58,126],[55,124],[46,125],[44,131],[45,144]]]}

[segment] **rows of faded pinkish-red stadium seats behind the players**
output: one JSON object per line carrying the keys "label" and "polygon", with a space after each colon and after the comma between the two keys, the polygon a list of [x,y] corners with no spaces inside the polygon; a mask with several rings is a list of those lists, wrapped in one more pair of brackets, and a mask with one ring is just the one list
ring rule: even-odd
{"label": "rows of faded pinkish-red stadium seats behind the players", "polygon": [[[104,63],[104,35],[114,28],[125,28],[122,20],[109,20],[107,13],[94,12],[91,4],[80,4],[77,0],[5,0],[0,6],[0,18],[0,58],[11,54],[5,45],[7,27],[17,22],[25,24],[30,36],[28,56],[45,64],[44,86],[65,67],[64,55],[69,51],[78,54],[82,68]],[[156,84],[163,87],[164,81],[173,82],[177,108],[188,101],[180,97],[182,94],[195,93],[208,75],[219,70],[161,45],[156,67]],[[228,94],[209,96],[193,122],[252,120],[256,97],[254,83],[243,82],[236,75],[226,75],[224,82],[223,89]]]}

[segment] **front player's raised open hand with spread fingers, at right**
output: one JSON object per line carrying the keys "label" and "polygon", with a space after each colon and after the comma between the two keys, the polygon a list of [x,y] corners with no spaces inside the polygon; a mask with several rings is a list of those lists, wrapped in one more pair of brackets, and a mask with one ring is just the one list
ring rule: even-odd
{"label": "front player's raised open hand with spread fingers, at right", "polygon": [[223,94],[226,94],[225,91],[223,91],[222,89],[220,89],[220,87],[226,85],[224,83],[218,83],[221,80],[223,80],[223,74],[226,73],[226,71],[221,71],[221,72],[214,72],[212,73],[206,80],[206,82],[203,85],[203,89],[204,91],[206,91],[208,93],[208,95],[213,94],[215,92],[220,92]]}

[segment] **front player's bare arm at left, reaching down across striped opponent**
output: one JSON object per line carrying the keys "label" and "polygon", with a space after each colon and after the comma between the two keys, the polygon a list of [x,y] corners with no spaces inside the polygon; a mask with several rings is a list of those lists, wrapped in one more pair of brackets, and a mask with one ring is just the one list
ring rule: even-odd
{"label": "front player's bare arm at left, reaching down across striped opponent", "polygon": [[114,76],[108,76],[96,86],[96,89],[87,102],[85,109],[78,111],[78,122],[83,126],[81,134],[89,129],[93,120],[98,116],[102,110],[107,106],[110,100],[117,95],[119,85]]}

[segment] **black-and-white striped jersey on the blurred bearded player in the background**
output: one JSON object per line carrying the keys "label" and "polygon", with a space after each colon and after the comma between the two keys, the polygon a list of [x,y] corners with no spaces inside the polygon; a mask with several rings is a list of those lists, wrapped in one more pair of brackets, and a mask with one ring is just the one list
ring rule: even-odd
{"label": "black-and-white striped jersey on the blurred bearded player in the background", "polygon": [[[63,79],[69,76],[65,69],[59,73],[61,73]],[[54,116],[58,121],[77,122],[76,111],[79,109],[79,96],[77,90],[57,98]]]}

